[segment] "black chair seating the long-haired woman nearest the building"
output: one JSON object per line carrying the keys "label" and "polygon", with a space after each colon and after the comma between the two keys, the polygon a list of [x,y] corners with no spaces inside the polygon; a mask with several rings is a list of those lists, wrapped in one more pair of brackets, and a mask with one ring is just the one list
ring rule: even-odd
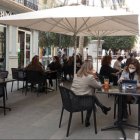
{"label": "black chair seating the long-haired woman nearest the building", "polygon": [[37,96],[39,95],[39,88],[47,88],[47,82],[45,75],[40,71],[26,70],[26,92],[27,95],[28,84],[30,84],[31,89],[34,85],[38,85]]}

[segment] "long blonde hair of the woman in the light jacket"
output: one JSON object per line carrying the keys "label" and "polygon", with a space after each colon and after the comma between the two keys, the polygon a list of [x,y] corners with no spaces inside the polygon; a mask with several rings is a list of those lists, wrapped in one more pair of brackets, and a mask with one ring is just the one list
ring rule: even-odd
{"label": "long blonde hair of the woman in the light jacket", "polygon": [[89,74],[93,74],[93,62],[90,60],[85,60],[80,70],[77,72],[77,76],[83,77],[88,76]]}

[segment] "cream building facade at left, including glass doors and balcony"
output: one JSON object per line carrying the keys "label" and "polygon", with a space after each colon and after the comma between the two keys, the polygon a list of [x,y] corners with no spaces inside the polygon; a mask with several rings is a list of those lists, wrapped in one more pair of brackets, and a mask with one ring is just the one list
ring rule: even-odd
{"label": "cream building facade at left, including glass doors and balcony", "polygon": [[[38,0],[1,0],[0,17],[38,10]],[[25,67],[38,54],[38,31],[0,25],[0,70]]]}

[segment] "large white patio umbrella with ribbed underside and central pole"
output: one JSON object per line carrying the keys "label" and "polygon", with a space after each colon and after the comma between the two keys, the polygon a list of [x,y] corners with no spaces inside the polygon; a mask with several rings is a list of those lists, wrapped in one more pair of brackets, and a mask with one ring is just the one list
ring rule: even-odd
{"label": "large white patio umbrella with ribbed underside and central pole", "polygon": [[[138,15],[83,5],[1,17],[0,23],[72,35],[75,38],[76,36],[101,37],[139,34]],[[74,64],[74,72],[76,72],[76,57]]]}

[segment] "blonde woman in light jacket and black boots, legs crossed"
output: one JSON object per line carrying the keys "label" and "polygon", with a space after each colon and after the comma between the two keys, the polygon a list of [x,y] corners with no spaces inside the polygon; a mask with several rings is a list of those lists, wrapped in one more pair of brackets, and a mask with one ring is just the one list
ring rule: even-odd
{"label": "blonde woman in light jacket and black boots, legs crossed", "polygon": [[[92,95],[95,100],[95,104],[97,104],[104,114],[111,109],[110,107],[105,107],[102,105],[97,97],[94,95],[95,89],[100,89],[102,85],[96,80],[96,75],[93,72],[93,64],[91,61],[86,60],[84,64],[81,66],[80,70],[77,72],[77,76],[74,77],[71,90],[76,95]],[[90,116],[92,113],[91,110],[87,110],[85,126],[88,127],[90,125]]]}

